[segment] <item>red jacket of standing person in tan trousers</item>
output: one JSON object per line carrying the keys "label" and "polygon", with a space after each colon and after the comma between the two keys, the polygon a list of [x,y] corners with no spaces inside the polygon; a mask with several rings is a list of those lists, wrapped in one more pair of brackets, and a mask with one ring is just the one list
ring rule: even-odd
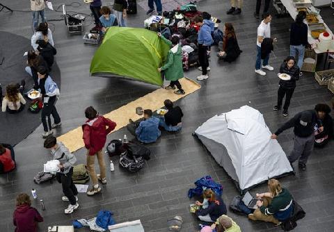
{"label": "red jacket of standing person in tan trousers", "polygon": [[[106,129],[108,126],[108,129]],[[108,135],[116,127],[116,122],[111,121],[103,116],[97,116],[95,119],[88,120],[82,125],[84,131],[84,143],[89,155],[94,156],[97,151],[102,150],[106,143],[106,135]]]}

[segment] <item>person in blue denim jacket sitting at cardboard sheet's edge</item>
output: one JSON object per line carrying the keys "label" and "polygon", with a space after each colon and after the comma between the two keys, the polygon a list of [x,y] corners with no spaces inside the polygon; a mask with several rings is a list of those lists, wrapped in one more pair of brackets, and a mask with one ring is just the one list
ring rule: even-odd
{"label": "person in blue denim jacket sitting at cardboard sheet's edge", "polygon": [[143,143],[157,142],[157,139],[161,135],[159,130],[159,119],[152,117],[152,110],[144,110],[144,118],[141,122],[132,122],[129,119],[130,124],[127,125],[127,129],[132,135],[136,136],[137,140]]}

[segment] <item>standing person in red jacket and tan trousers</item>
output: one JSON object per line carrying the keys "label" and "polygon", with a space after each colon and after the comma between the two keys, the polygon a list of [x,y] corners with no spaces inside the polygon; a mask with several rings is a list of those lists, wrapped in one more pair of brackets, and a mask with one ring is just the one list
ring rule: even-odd
{"label": "standing person in red jacket and tan trousers", "polygon": [[[101,192],[98,181],[106,184],[106,165],[102,149],[106,143],[106,135],[115,129],[116,123],[111,121],[111,119],[98,115],[93,106],[86,108],[85,116],[88,120],[82,125],[82,131],[84,132],[83,139],[87,149],[86,166],[88,174],[93,181],[93,188],[87,194],[88,196],[93,196]],[[99,162],[100,175],[95,172],[95,155]]]}

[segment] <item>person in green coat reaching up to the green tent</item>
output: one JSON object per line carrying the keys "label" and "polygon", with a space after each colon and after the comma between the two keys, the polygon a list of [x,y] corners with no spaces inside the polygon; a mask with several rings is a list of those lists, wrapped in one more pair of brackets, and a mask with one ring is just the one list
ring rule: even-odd
{"label": "person in green coat reaching up to the green tent", "polygon": [[164,35],[158,33],[159,38],[161,38],[166,44],[168,44],[171,49],[168,51],[167,60],[164,66],[159,67],[158,71],[164,71],[165,78],[170,81],[170,84],[165,87],[166,90],[175,90],[175,85],[177,90],[174,91],[175,94],[185,94],[179,79],[183,78],[183,68],[182,68],[182,49],[180,43],[180,38],[177,35],[172,37],[172,40],[167,40]]}

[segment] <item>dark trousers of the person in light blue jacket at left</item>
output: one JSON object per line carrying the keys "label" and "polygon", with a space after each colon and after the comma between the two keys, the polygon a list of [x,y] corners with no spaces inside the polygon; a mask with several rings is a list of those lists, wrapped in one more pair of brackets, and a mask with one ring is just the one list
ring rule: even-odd
{"label": "dark trousers of the person in light blue jacket at left", "polygon": [[61,117],[59,117],[56,106],[56,96],[50,97],[47,103],[44,103],[42,108],[42,124],[44,131],[51,131],[51,115],[54,117],[54,123],[58,124],[61,122]]}

